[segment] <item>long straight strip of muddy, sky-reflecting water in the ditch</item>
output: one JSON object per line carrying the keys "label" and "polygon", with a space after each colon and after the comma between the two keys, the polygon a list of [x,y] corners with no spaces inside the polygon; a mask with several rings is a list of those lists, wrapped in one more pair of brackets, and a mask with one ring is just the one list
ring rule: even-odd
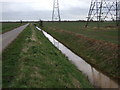
{"label": "long straight strip of muddy, sky-reflecting water in the ditch", "polygon": [[61,44],[59,41],[54,39],[51,35],[36,27],[38,30],[42,31],[43,34],[49,39],[49,41],[57,47],[68,59],[77,66],[77,68],[83,72],[83,74],[88,77],[88,80],[97,88],[120,88],[120,85],[113,81],[108,76],[96,70],[90,64],[85,62],[81,57],[74,54],[71,50]]}

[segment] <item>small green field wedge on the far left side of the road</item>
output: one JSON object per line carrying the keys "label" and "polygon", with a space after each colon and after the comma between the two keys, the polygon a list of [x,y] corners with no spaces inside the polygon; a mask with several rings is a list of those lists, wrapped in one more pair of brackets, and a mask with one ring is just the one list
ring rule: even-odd
{"label": "small green field wedge on the far left side of the road", "polygon": [[0,30],[0,33],[5,33],[7,31],[17,28],[23,24],[24,23],[2,23],[2,30]]}

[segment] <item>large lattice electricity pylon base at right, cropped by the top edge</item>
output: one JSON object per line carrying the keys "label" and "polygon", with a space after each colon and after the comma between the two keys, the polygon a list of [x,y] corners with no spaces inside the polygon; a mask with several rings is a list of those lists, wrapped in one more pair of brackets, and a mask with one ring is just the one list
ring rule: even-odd
{"label": "large lattice electricity pylon base at right, cropped by the top edge", "polygon": [[86,27],[90,21],[117,21],[117,4],[117,0],[92,0],[87,17]]}

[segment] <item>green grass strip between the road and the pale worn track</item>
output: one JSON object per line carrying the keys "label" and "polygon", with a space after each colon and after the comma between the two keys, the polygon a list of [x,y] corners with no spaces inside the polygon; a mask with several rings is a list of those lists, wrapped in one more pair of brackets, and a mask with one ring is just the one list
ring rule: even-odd
{"label": "green grass strip between the road and the pale worn track", "polygon": [[30,28],[24,30],[24,32],[22,32],[2,53],[3,87],[8,87],[8,85],[13,81],[13,78],[17,75],[17,71],[19,71],[18,60],[20,58],[20,52],[24,47],[23,43],[25,43],[25,38],[28,38],[31,35],[31,32],[28,29]]}

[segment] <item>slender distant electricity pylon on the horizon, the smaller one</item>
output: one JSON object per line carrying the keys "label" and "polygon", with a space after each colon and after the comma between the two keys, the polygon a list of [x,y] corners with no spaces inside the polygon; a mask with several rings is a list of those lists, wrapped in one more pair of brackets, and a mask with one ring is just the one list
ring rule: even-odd
{"label": "slender distant electricity pylon on the horizon, the smaller one", "polygon": [[58,0],[54,0],[53,2],[52,21],[61,21]]}

